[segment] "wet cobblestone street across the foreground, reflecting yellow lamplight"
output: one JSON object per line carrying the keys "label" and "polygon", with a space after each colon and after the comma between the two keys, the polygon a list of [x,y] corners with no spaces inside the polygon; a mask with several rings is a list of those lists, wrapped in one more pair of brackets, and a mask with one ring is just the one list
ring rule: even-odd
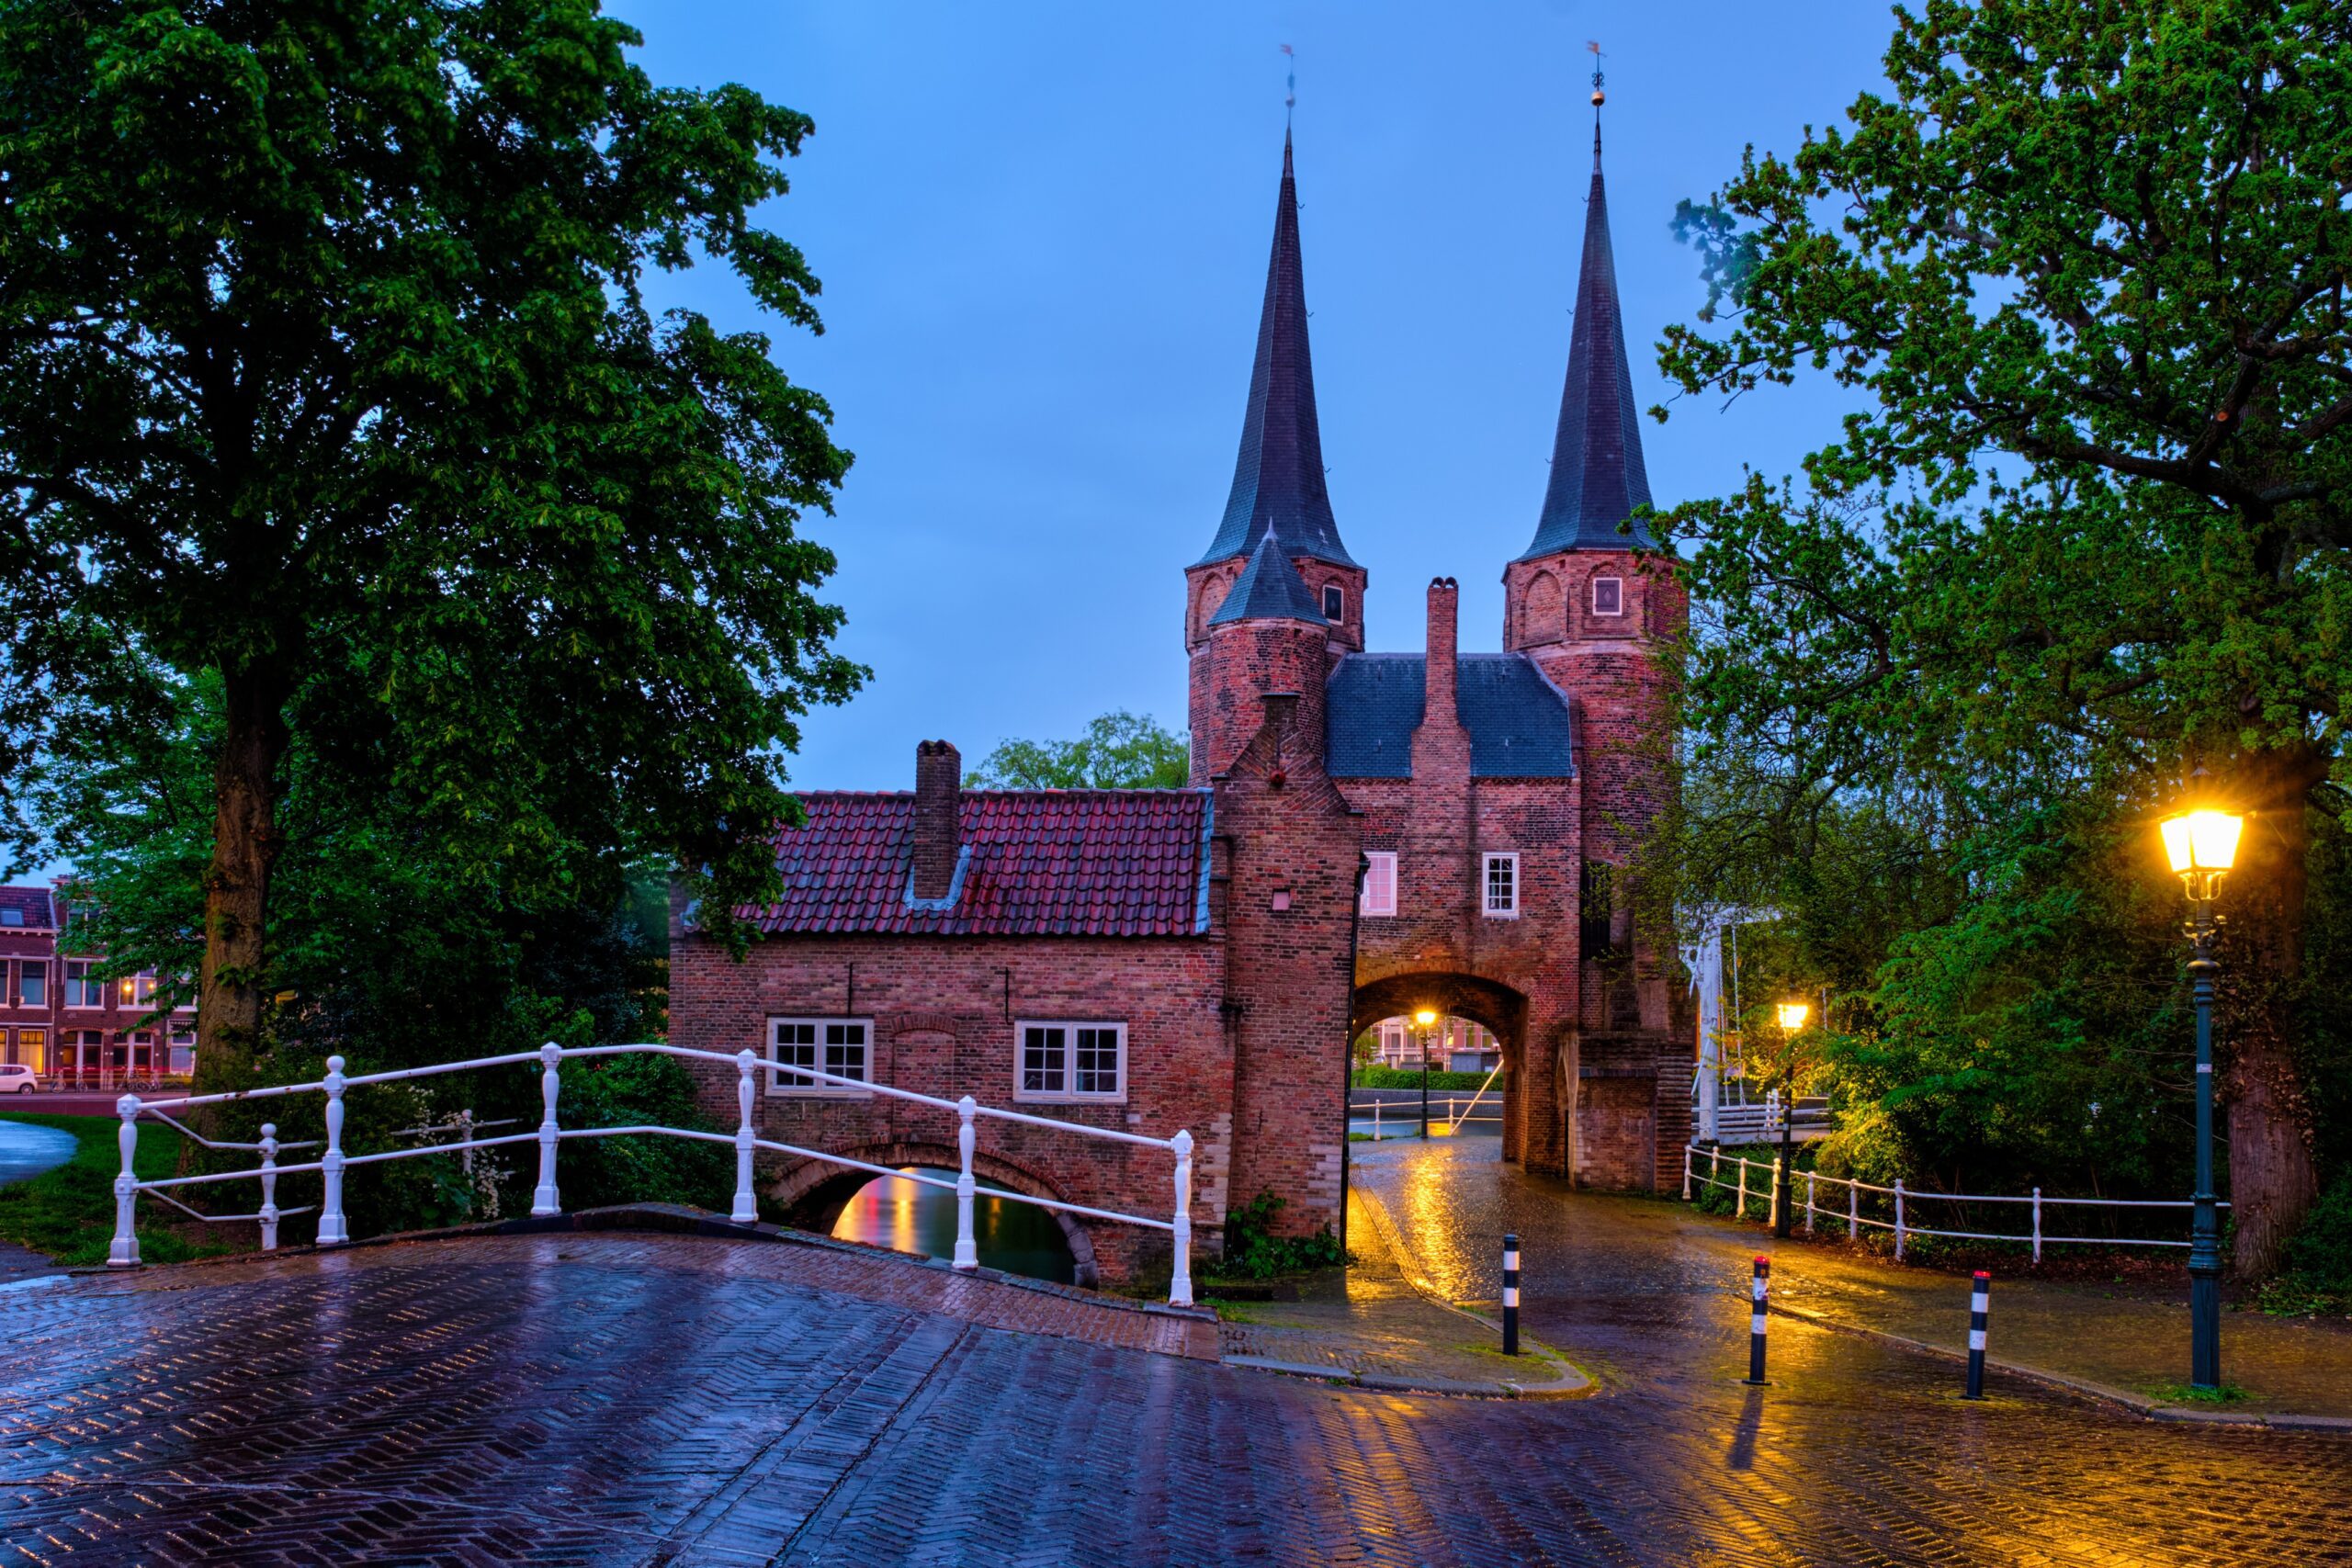
{"label": "wet cobblestone street across the foreground, reflecting yellow lamplight", "polygon": [[1802,1324],[1745,1389],[1712,1269],[1588,1253],[1571,1288],[1552,1208],[1531,1328],[1611,1378],[1564,1403],[1025,1333],[1058,1298],[696,1237],[0,1293],[0,1561],[2352,1563],[2352,1441],[1962,1406],[1947,1363]]}

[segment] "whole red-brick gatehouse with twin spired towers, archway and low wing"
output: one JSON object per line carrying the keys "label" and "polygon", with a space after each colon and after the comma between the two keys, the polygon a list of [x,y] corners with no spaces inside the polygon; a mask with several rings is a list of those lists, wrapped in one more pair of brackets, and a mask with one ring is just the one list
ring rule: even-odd
{"label": "whole red-brick gatehouse with twin spired towers, archway and low wing", "polygon": [[[1185,1126],[1216,1248],[1228,1199],[1258,1192],[1287,1201],[1287,1229],[1343,1229],[1350,1041],[1430,1006],[1501,1048],[1505,1159],[1599,1187],[1675,1180],[1691,1032],[1616,870],[1672,788],[1656,651],[1684,625],[1679,588],[1637,552],[1649,538],[1621,531],[1649,503],[1635,416],[1595,139],[1552,480],[1503,567],[1503,651],[1458,651],[1454,578],[1428,588],[1423,651],[1367,651],[1284,139],[1240,461],[1185,569],[1192,788],[960,790],[955,748],[924,743],[915,795],[809,795],[807,825],[779,835],[783,900],[743,910],[767,938],[746,961],[675,924],[673,1039]],[[1115,1051],[1115,1093],[1040,1091],[1089,1072],[1089,1051]],[[731,1117],[731,1074],[706,1095]],[[757,1117],[800,1147],[955,1164],[946,1117],[884,1098],[779,1088]],[[985,1128],[981,1173],[1167,1211],[1164,1161],[1028,1133]],[[816,1161],[762,1180],[814,1225],[863,1182]],[[1138,1262],[1131,1229],[1073,1246],[1082,1276]]]}

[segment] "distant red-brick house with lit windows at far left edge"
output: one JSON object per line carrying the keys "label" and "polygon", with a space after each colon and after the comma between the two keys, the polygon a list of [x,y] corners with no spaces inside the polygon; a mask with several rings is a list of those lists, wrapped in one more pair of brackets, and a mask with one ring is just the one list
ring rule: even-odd
{"label": "distant red-brick house with lit windows at far left edge", "polygon": [[101,978],[106,954],[71,940],[64,884],[0,886],[0,1060],[92,1086],[193,1072],[195,1009],[158,1016],[155,971]]}

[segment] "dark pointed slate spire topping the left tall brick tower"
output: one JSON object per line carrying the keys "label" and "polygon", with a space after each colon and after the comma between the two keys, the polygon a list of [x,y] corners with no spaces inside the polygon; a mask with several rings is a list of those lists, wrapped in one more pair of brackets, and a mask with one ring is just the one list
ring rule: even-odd
{"label": "dark pointed slate spire topping the left tall brick tower", "polygon": [[1272,524],[1289,555],[1355,567],[1331,520],[1324,491],[1322,433],[1315,425],[1315,364],[1308,357],[1308,289],[1298,261],[1298,181],[1291,134],[1282,132],[1282,197],[1275,202],[1275,254],[1265,263],[1258,360],[1249,369],[1242,456],[1232,465],[1225,517],[1209,541],[1209,562],[1232,559]]}

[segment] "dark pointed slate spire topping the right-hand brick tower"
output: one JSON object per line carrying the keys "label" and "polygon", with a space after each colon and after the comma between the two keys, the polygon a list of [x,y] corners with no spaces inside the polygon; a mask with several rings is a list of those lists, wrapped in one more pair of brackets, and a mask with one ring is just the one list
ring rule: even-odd
{"label": "dark pointed slate spire topping the right-hand brick tower", "polygon": [[1576,324],[1569,329],[1569,386],[1559,395],[1559,435],[1552,440],[1552,484],[1543,494],[1536,543],[1519,559],[1555,550],[1625,550],[1651,545],[1649,529],[1618,534],[1637,505],[1649,505],[1642,468],[1639,409],[1625,360],[1625,320],[1616,299],[1616,254],[1609,247],[1609,197],[1602,190],[1602,127],[1592,127],[1592,195],[1585,205],[1585,261],[1576,280]]}

